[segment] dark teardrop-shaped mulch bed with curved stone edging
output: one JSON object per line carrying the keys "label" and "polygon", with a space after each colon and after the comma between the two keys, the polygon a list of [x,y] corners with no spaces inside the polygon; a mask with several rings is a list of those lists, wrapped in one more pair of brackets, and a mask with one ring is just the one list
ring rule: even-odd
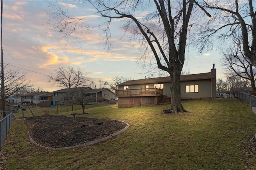
{"label": "dark teardrop-shaped mulch bed with curved stone edging", "polygon": [[47,147],[68,147],[104,138],[122,130],[126,123],[109,119],[37,116],[25,120],[32,139]]}

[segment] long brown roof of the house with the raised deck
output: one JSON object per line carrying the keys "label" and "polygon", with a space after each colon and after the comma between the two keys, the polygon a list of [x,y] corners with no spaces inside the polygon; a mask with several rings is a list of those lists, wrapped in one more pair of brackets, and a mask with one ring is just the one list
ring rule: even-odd
{"label": "long brown roof of the house with the raised deck", "polygon": [[[200,73],[200,74],[190,74],[190,75],[181,75],[180,81],[193,81],[193,80],[204,80],[204,79],[214,79],[214,75],[211,73]],[[168,77],[157,77],[157,78],[150,78],[150,79],[139,79],[139,80],[130,80],[120,85],[136,85],[136,84],[148,84],[148,83],[165,83],[170,82],[171,78]]]}

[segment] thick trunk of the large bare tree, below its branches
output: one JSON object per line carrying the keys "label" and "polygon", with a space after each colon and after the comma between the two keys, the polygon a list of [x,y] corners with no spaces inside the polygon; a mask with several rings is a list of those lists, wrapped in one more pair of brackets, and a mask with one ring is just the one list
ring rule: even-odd
{"label": "thick trunk of the large bare tree, below its branches", "polygon": [[187,112],[186,109],[183,108],[180,99],[180,72],[170,71],[170,91],[171,91],[171,106],[175,113],[178,112]]}

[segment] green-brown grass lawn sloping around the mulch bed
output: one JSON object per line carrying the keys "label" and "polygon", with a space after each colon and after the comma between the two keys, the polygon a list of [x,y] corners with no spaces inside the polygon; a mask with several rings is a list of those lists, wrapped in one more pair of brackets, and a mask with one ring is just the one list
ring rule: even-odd
{"label": "green-brown grass lawn sloping around the mulch bed", "polygon": [[190,113],[162,113],[168,105],[88,108],[90,114],[79,116],[118,119],[131,126],[111,140],[72,150],[31,145],[28,127],[15,120],[1,156],[10,170],[256,169],[255,155],[241,151],[256,133],[256,115],[250,107],[237,99],[182,103]]}

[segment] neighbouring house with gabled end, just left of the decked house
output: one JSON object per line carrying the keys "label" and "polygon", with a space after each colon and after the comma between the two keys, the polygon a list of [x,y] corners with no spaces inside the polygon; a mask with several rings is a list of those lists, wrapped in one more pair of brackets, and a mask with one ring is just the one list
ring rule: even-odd
{"label": "neighbouring house with gabled end, just left of the decked house", "polygon": [[116,97],[115,93],[107,88],[92,89],[91,87],[75,87],[53,91],[53,104],[57,106],[58,103],[64,105],[71,104],[72,102],[76,103],[76,101],[71,100],[73,99],[74,91],[83,91],[83,93],[95,95],[96,102],[112,100]]}

